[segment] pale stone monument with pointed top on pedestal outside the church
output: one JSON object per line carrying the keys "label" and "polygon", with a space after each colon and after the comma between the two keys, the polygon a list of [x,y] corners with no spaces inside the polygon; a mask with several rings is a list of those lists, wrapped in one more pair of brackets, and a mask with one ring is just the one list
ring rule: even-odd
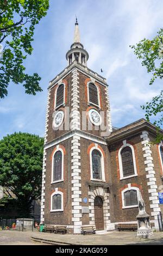
{"label": "pale stone monument with pointed top on pedestal outside the church", "polygon": [[145,202],[142,199],[141,192],[139,191],[138,198],[138,206],[139,206],[139,214],[136,216],[137,218],[137,237],[148,238],[153,234],[149,215],[145,210]]}

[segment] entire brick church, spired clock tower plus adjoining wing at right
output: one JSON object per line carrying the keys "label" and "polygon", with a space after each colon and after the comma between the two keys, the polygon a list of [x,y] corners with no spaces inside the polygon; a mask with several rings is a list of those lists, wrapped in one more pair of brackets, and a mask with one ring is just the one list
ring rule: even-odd
{"label": "entire brick church, spired clock tower plus adjoining wing at right", "polygon": [[48,87],[41,221],[73,233],[88,224],[113,230],[136,223],[140,191],[158,230],[163,144],[150,144],[156,127],[145,119],[112,128],[108,84],[88,58],[76,21],[67,67]]}

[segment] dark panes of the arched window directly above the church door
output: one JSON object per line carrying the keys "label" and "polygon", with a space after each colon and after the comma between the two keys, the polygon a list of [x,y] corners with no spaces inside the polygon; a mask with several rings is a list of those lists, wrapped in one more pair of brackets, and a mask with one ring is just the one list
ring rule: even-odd
{"label": "dark panes of the arched window directly above the church door", "polygon": [[96,149],[92,151],[92,173],[93,179],[102,179],[101,153]]}

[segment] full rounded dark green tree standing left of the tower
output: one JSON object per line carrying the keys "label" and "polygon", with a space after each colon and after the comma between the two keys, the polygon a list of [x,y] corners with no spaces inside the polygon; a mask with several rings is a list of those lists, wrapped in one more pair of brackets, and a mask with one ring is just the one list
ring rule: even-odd
{"label": "full rounded dark green tree standing left of the tower", "polygon": [[1,210],[14,202],[18,216],[30,216],[32,201],[41,197],[42,159],[39,136],[15,132],[0,141]]}

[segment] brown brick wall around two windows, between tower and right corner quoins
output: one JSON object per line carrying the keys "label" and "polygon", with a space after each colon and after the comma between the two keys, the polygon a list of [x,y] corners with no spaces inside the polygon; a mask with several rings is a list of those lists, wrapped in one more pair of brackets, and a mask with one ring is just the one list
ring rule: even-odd
{"label": "brown brick wall around two windows, between tower and right corner quoins", "polygon": [[140,134],[123,138],[127,140],[127,143],[133,145],[136,158],[136,169],[138,176],[120,180],[120,170],[118,163],[118,150],[122,145],[122,141],[111,144],[109,146],[110,151],[110,169],[111,169],[111,196],[113,201],[113,214],[111,214],[111,222],[123,222],[123,221],[136,221],[136,215],[138,214],[138,208],[122,209],[122,195],[121,192],[127,187],[127,184],[135,184],[136,187],[141,189],[142,197],[145,200],[146,211],[151,214],[149,206],[149,194],[146,179],[146,170],[143,159],[142,144]]}

